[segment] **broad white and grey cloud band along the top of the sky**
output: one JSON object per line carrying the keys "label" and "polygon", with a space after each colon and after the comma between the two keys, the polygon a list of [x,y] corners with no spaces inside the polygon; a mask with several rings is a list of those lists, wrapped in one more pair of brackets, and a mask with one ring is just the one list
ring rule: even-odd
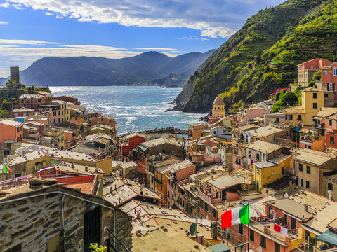
{"label": "broad white and grey cloud band along the top of the sky", "polygon": [[[7,0],[15,8],[45,10],[80,22],[116,22],[124,26],[185,27],[203,37],[228,37],[261,8],[284,0]],[[48,15],[48,14],[46,14]]]}

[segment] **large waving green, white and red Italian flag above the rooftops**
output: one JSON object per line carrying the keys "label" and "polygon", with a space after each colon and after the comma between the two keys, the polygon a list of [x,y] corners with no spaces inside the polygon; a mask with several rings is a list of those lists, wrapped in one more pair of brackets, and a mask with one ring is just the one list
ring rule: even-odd
{"label": "large waving green, white and red Italian flag above the rooftops", "polygon": [[235,224],[249,223],[249,204],[243,207],[236,207],[221,214],[221,228],[229,228]]}

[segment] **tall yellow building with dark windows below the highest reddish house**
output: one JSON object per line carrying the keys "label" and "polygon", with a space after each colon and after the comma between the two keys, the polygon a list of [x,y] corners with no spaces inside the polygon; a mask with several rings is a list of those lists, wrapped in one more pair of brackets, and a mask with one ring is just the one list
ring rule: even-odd
{"label": "tall yellow building with dark windows below the highest reddish house", "polygon": [[284,109],[285,123],[312,127],[315,114],[324,106],[324,92],[314,87],[302,90],[302,104]]}

